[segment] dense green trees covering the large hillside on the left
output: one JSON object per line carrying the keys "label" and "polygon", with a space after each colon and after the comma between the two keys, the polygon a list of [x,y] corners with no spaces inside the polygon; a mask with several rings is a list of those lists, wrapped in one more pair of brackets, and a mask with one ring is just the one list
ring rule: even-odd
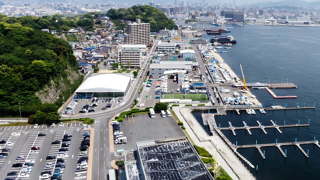
{"label": "dense green trees covering the large hillside on the left", "polygon": [[[19,108],[23,116],[56,112],[56,105],[42,104],[35,92],[50,80],[65,78],[66,69],[77,71],[71,46],[50,33],[1,21],[0,48],[0,116],[17,116]],[[56,114],[48,116],[54,118]]]}

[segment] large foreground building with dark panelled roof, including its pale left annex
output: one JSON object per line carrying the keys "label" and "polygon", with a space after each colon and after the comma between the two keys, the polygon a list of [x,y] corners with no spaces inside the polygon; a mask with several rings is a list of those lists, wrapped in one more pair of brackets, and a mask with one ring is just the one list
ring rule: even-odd
{"label": "large foreground building with dark panelled roof, including its pale left annex", "polygon": [[126,179],[214,180],[186,137],[136,142],[136,154],[125,158]]}

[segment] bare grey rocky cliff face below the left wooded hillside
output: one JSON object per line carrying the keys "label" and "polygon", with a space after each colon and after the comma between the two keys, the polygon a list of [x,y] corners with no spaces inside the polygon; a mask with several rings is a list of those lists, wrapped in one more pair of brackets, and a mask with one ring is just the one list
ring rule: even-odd
{"label": "bare grey rocky cliff face below the left wooded hillside", "polygon": [[39,96],[41,102],[54,103],[65,89],[68,89],[76,79],[79,78],[79,73],[68,68],[65,72],[66,78],[59,77],[51,80],[50,83],[46,84],[43,89],[37,91],[35,94]]}

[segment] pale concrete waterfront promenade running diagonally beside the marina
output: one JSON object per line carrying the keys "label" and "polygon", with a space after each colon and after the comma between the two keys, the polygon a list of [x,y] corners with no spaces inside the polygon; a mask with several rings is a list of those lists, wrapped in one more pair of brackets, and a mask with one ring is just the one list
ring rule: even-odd
{"label": "pale concrete waterfront promenade running diagonally beside the marina", "polygon": [[[204,147],[213,156],[216,156],[218,164],[223,167],[233,180],[255,179],[218,136],[208,136],[206,134],[200,124],[194,119],[189,109],[179,106],[172,107],[172,109],[179,120],[183,122],[185,130],[192,141],[196,145]],[[219,152],[215,148],[217,146]]]}

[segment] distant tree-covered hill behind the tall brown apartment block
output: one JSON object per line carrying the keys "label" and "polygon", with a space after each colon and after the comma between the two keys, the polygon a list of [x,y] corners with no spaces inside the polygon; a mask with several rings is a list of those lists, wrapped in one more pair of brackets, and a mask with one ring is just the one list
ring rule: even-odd
{"label": "distant tree-covered hill behind the tall brown apartment block", "polygon": [[175,23],[167,18],[167,16],[158,8],[141,5],[133,5],[130,8],[109,9],[107,16],[110,17],[114,24],[121,25],[120,20],[135,21],[135,19],[141,19],[141,22],[150,23],[150,31],[155,32],[165,27],[167,29],[175,28]]}

